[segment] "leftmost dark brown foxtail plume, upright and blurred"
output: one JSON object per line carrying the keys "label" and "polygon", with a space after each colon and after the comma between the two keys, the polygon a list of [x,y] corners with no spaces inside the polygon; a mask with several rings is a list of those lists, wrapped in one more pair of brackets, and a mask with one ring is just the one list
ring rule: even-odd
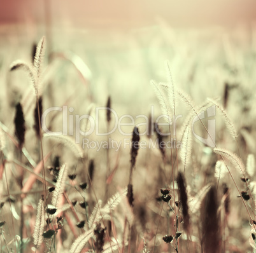
{"label": "leftmost dark brown foxtail plume, upright and blurred", "polygon": [[15,135],[18,139],[18,146],[21,149],[25,142],[25,119],[22,111],[22,105],[20,103],[16,105],[15,109]]}

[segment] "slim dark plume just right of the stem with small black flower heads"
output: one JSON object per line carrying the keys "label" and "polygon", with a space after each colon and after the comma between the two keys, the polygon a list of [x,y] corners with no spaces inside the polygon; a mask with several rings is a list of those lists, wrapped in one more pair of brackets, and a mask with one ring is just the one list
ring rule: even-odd
{"label": "slim dark plume just right of the stem with small black flower heads", "polygon": [[185,177],[181,172],[178,173],[178,188],[179,188],[179,200],[182,207],[182,215],[184,221],[184,229],[185,231],[189,231],[190,228],[190,216],[188,214],[188,196],[187,196],[187,188]]}

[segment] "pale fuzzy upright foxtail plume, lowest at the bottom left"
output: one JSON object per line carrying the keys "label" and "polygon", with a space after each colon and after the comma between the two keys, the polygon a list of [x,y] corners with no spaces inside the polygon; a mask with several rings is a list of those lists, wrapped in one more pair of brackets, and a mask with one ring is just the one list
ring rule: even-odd
{"label": "pale fuzzy upright foxtail plume, lowest at the bottom left", "polygon": [[43,242],[43,233],[45,231],[45,209],[43,206],[43,196],[39,200],[38,203],[38,210],[36,213],[36,223],[34,225],[34,233],[33,233],[33,238],[34,238],[34,246],[38,248],[41,243]]}

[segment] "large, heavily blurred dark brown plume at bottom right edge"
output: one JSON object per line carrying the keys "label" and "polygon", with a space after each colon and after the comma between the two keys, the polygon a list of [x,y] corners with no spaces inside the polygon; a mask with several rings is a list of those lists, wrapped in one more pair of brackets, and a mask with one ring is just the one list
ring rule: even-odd
{"label": "large, heavily blurred dark brown plume at bottom right edge", "polygon": [[204,252],[220,252],[220,219],[218,216],[218,200],[215,187],[212,186],[208,191],[204,205],[201,210]]}

